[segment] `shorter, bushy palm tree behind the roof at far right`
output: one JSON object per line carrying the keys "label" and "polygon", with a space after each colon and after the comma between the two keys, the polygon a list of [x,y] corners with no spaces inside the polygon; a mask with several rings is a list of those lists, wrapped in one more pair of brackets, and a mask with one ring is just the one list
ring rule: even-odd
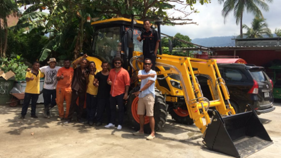
{"label": "shorter, bushy palm tree behind the roof at far right", "polygon": [[247,33],[243,34],[246,38],[263,38],[263,35],[272,37],[270,29],[267,28],[266,19],[255,17],[251,22],[252,27],[249,28],[246,24],[243,24],[243,29],[247,30]]}

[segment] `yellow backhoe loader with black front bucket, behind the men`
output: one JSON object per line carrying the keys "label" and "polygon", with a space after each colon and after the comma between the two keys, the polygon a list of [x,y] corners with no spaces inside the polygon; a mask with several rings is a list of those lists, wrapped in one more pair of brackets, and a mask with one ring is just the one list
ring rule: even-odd
{"label": "yellow backhoe loader with black front bucket, behind the men", "polygon": [[[113,18],[92,22],[94,29],[90,61],[107,61],[120,56],[123,68],[131,75],[131,92],[126,102],[127,115],[132,127],[139,129],[138,71],[143,69],[142,42],[136,40],[143,22],[126,18]],[[158,25],[158,28],[160,25]],[[160,30],[158,30],[160,32]],[[160,33],[159,33],[160,34]],[[122,48],[118,49],[118,44]],[[110,65],[111,65],[110,64]],[[210,150],[235,157],[246,157],[272,144],[267,131],[250,105],[248,111],[235,114],[229,102],[229,93],[215,60],[202,60],[170,55],[157,55],[156,99],[154,107],[155,129],[161,129],[168,113],[178,122],[193,124],[203,134],[203,144]],[[198,76],[207,78],[213,100],[204,97]],[[225,103],[227,102],[227,103]],[[145,119],[149,132],[149,119]]]}

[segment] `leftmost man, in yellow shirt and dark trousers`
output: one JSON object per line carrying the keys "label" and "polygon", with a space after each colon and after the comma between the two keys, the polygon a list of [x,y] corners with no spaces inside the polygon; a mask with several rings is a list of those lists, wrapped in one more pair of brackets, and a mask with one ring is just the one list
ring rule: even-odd
{"label": "leftmost man, in yellow shirt and dark trousers", "polygon": [[26,73],[26,91],[23,109],[21,109],[21,117],[20,119],[24,119],[27,113],[27,109],[31,100],[31,117],[38,118],[35,115],[36,112],[36,102],[38,100],[38,96],[40,93],[39,84],[40,78],[44,77],[39,71],[40,64],[39,62],[34,62],[32,65],[32,69]]}

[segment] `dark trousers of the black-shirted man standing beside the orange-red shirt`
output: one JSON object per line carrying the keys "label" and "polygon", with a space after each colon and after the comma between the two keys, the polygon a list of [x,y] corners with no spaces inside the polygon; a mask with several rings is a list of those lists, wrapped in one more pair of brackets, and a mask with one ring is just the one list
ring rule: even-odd
{"label": "dark trousers of the black-shirted man standing beside the orange-red shirt", "polygon": [[103,111],[106,111],[107,115],[107,124],[111,121],[111,109],[110,109],[110,100],[108,98],[98,98],[97,104],[97,122],[102,123],[102,114]]}

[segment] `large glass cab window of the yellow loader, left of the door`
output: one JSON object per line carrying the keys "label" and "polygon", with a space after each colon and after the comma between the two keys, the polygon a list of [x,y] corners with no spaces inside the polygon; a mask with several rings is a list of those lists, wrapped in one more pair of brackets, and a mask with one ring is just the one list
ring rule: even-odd
{"label": "large glass cab window of the yellow loader, left of the door", "polygon": [[120,27],[104,28],[95,31],[93,50],[109,63],[121,51]]}

